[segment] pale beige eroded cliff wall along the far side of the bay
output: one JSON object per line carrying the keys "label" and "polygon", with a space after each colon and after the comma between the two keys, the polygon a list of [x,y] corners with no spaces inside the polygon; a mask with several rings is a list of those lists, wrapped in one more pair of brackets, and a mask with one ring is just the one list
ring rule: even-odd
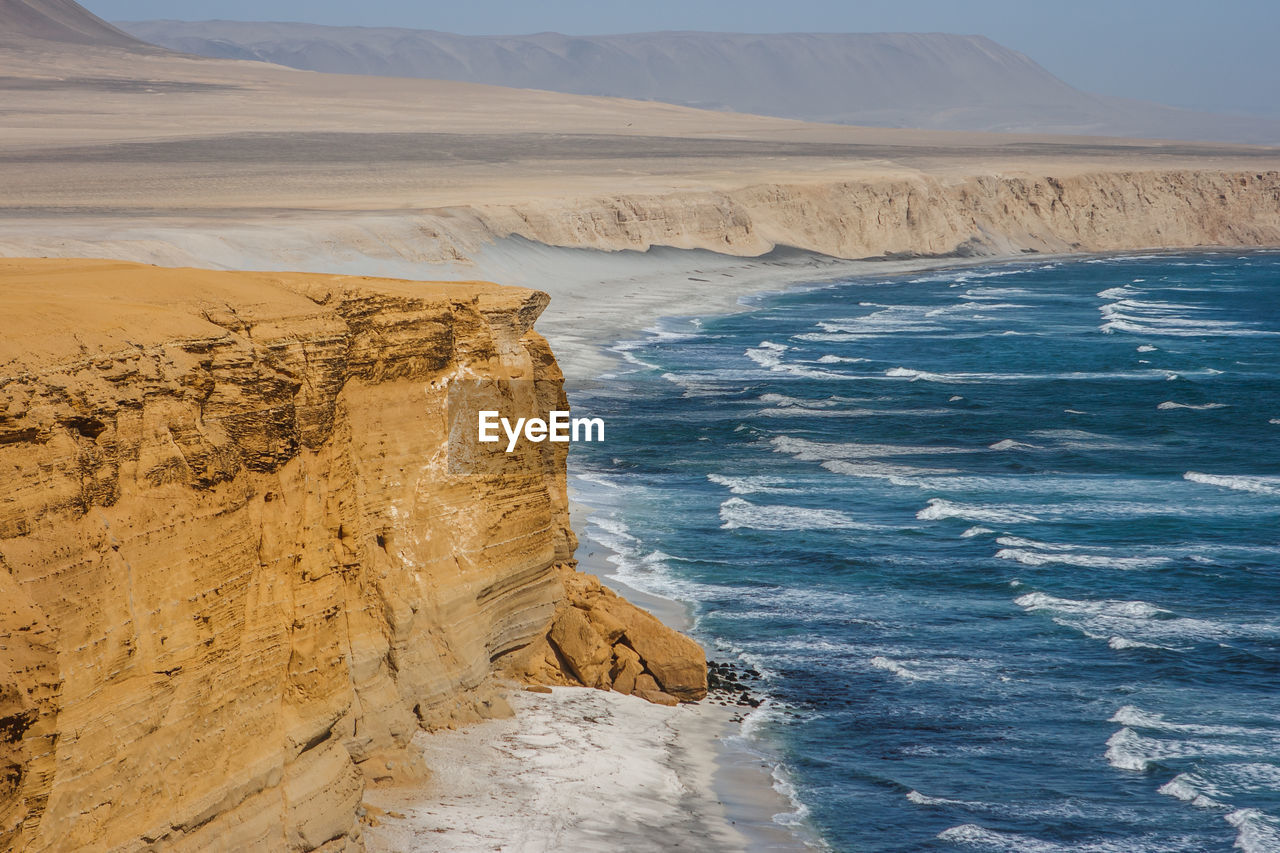
{"label": "pale beige eroded cliff wall along the far side of the bay", "polygon": [[[650,246],[835,257],[1010,255],[1280,245],[1280,172],[914,174],[759,183],[726,191],[485,206],[479,231],[552,246]],[[465,232],[439,233],[465,254]]]}

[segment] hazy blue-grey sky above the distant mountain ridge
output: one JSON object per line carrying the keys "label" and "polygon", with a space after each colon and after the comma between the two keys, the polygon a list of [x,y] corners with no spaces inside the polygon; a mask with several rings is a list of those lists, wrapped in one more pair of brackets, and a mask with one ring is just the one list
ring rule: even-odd
{"label": "hazy blue-grey sky above the distant mountain ridge", "polygon": [[82,0],[109,20],[306,20],[471,35],[980,33],[1091,92],[1280,115],[1280,0]]}

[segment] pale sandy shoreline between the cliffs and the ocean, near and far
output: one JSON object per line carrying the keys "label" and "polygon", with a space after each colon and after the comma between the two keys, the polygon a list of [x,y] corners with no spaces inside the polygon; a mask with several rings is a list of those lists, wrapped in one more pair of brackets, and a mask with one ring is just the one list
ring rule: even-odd
{"label": "pale sandy shoreline between the cliffs and the ocean, near and far", "polygon": [[[1057,263],[1097,255],[846,261],[790,251],[774,257],[746,259],[698,250],[602,254],[535,247],[531,256],[522,257],[524,247],[500,248],[507,251],[504,263],[494,263],[493,256],[479,257],[476,266],[480,269],[467,268],[467,277],[484,273],[486,278],[552,295],[552,305],[536,328],[550,342],[567,380],[602,378],[622,361],[611,352],[612,347],[641,337],[662,319],[746,310],[742,305],[746,296],[783,292],[803,284],[820,286],[842,278],[1018,261]],[[516,270],[520,273],[515,274]],[[689,278],[712,275],[723,279],[717,282],[721,287],[689,287]],[[602,300],[602,288],[608,288],[612,298]],[[564,307],[557,311],[557,304]],[[602,583],[664,624],[689,633],[695,621],[695,602],[637,589],[618,578],[617,566],[609,561],[614,552],[588,533],[585,521],[591,507],[575,492],[572,471],[568,487],[572,526],[580,535],[579,569],[598,575]],[[586,688],[556,688],[549,699],[516,689],[512,704],[516,716],[509,720],[484,721],[461,731],[419,733],[415,744],[428,766],[444,770],[425,786],[369,790],[366,802],[406,816],[369,830],[371,852],[550,850],[571,845],[603,853],[618,849],[618,841],[625,841],[627,849],[662,850],[824,848],[820,836],[803,817],[790,826],[773,821],[778,815],[796,815],[797,811],[803,815],[804,806],[780,790],[774,762],[751,752],[745,742],[733,743],[744,735],[742,724],[733,721],[732,708],[708,702],[660,708],[634,697]],[[541,734],[529,735],[527,729]],[[654,731],[663,734],[645,736]],[[586,751],[579,752],[580,747]],[[625,777],[613,777],[613,788],[602,789],[568,770],[596,761],[613,766],[625,762],[627,767],[635,766],[641,777],[664,776],[685,795],[664,797],[653,786],[635,785]],[[781,757],[774,761],[781,763]],[[529,771],[526,763],[534,770]],[[539,799],[513,792],[506,783],[500,783],[498,792],[484,784],[511,774],[531,775],[532,788],[556,789],[559,795]],[[461,785],[463,793],[451,792],[451,784]],[[611,815],[616,820],[604,826],[598,815],[573,811],[575,797],[585,789],[602,802],[611,800],[612,794],[613,800],[627,803],[628,808],[613,806]],[[438,802],[442,797],[444,799]],[[540,821],[545,835],[536,839],[522,835],[511,822],[512,817],[525,821],[518,824],[521,827]],[[454,827],[471,829],[444,830],[438,826],[442,818],[452,820]],[[508,826],[511,834],[503,835],[503,826]],[[643,834],[637,831],[640,827]],[[516,838],[521,840],[513,841]]]}

